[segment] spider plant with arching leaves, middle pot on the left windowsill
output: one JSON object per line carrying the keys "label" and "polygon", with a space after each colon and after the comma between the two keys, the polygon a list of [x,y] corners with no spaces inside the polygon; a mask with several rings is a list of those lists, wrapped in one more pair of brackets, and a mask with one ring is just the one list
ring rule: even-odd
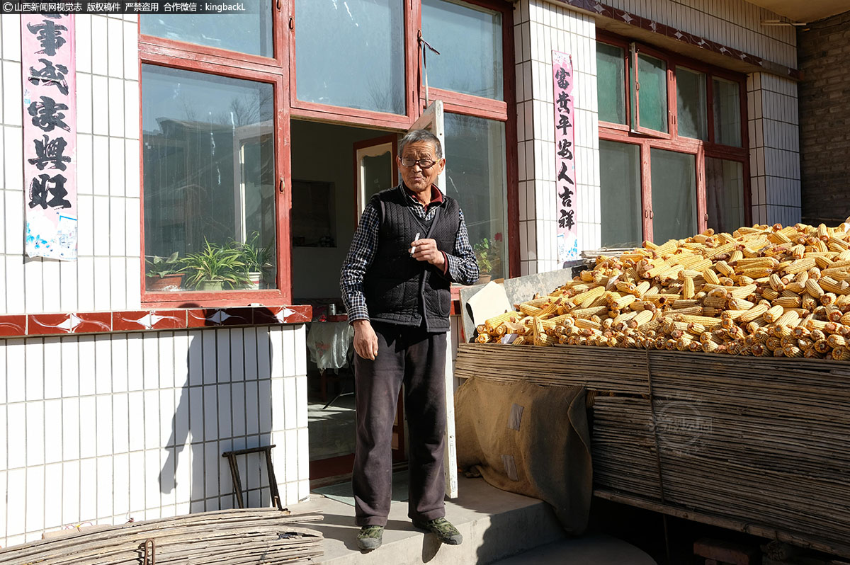
{"label": "spider plant with arching leaves, middle pot on the left windowsill", "polygon": [[204,239],[204,248],[183,259],[189,285],[199,291],[240,288],[248,282],[246,265],[232,246],[219,246]]}

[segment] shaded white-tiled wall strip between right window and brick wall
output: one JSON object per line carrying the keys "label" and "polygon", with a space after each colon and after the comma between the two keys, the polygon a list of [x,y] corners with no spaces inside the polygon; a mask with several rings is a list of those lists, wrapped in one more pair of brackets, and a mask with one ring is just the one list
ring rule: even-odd
{"label": "shaded white-tiled wall strip between right window and brick wall", "polygon": [[801,221],[796,82],[767,73],[747,77],[753,223]]}

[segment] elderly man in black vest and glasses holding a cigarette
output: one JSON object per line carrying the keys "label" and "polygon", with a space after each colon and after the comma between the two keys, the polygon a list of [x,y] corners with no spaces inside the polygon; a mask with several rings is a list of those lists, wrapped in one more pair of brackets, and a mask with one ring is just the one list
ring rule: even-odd
{"label": "elderly man in black vest and glasses holding a cigarette", "polygon": [[461,534],[445,519],[445,351],[452,282],[478,279],[457,201],[442,194],[439,138],[425,130],[399,143],[403,183],[365,206],[340,285],[354,325],[357,443],[355,521],[361,550],[381,545],[392,489],[392,428],[405,386],[410,432],[408,516],[443,543]]}

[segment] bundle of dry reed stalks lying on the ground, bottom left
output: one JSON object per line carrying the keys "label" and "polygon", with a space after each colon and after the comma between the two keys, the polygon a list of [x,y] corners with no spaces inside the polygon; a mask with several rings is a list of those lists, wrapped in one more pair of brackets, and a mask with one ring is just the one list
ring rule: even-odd
{"label": "bundle of dry reed stalks lying on the ground, bottom left", "polygon": [[8,565],[255,565],[314,563],[322,534],[297,523],[319,515],[276,508],[200,512],[71,534],[0,549]]}

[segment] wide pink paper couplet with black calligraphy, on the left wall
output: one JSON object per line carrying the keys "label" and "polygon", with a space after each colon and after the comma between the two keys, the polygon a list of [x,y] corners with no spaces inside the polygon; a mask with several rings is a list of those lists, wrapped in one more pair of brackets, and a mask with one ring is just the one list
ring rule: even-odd
{"label": "wide pink paper couplet with black calligraphy, on the left wall", "polygon": [[77,258],[74,16],[20,16],[26,254]]}

